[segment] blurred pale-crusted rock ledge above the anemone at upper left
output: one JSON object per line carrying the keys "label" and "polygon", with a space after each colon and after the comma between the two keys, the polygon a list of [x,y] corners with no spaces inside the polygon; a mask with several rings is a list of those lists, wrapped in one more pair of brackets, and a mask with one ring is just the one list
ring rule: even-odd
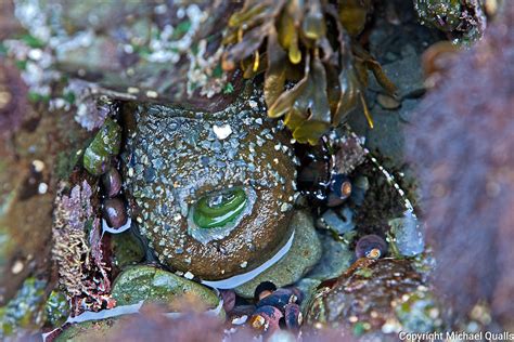
{"label": "blurred pale-crusted rock ledge above the anemone at upper left", "polygon": [[[52,10],[55,6],[60,11]],[[223,90],[230,93],[237,88],[231,77],[213,70],[220,40],[207,44],[206,39],[224,27],[232,8],[230,2],[16,3],[16,11],[24,14],[23,26],[51,50],[53,64],[95,82],[97,93],[120,100],[189,102],[209,109],[231,100]],[[154,31],[158,35],[151,35]],[[70,41],[80,43],[69,45]]]}

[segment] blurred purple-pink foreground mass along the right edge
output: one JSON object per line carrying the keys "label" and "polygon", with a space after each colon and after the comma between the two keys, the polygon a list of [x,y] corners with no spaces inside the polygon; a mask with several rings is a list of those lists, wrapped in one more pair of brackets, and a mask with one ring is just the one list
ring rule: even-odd
{"label": "blurred purple-pink foreground mass along the right edge", "polygon": [[465,315],[487,300],[514,317],[514,5],[457,58],[408,132],[417,167],[435,286]]}

